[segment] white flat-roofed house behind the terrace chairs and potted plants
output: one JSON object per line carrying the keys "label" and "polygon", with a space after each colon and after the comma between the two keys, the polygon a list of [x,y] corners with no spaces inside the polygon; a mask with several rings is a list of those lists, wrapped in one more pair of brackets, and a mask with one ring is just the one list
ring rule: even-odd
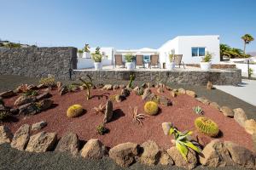
{"label": "white flat-roofed house behind the terrace chairs and potted plants", "polygon": [[[91,52],[95,48],[90,48]],[[219,58],[219,36],[178,36],[172,40],[164,43],[160,48],[140,48],[140,49],[115,49],[115,48],[101,48],[101,52],[105,54],[102,60],[103,65],[113,65],[114,54],[143,54],[144,60],[149,61],[151,54],[159,54],[160,67],[164,63],[169,63],[169,54],[183,54],[183,62],[185,64],[199,64],[201,58],[207,53],[213,54],[212,64],[218,64]],[[106,57],[108,56],[108,57]],[[79,58],[78,68],[93,67],[92,59]]]}

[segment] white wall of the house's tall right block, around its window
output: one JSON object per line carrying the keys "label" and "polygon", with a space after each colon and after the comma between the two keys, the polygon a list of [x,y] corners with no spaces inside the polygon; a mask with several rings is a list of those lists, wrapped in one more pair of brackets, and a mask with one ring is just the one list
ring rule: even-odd
{"label": "white wall of the house's tall right block, around its window", "polygon": [[169,62],[165,53],[171,53],[172,49],[175,49],[175,54],[183,54],[185,64],[199,64],[201,57],[192,57],[191,48],[194,47],[206,48],[206,51],[213,54],[212,64],[219,63],[219,36],[179,36],[159,48],[161,65]]}

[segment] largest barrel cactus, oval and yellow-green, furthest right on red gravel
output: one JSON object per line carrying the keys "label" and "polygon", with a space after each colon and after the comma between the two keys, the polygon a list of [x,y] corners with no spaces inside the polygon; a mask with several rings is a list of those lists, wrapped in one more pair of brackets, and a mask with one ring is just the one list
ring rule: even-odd
{"label": "largest barrel cactus, oval and yellow-green, furthest right on red gravel", "polygon": [[218,125],[207,117],[197,117],[195,119],[195,127],[198,131],[210,137],[216,137],[218,135]]}

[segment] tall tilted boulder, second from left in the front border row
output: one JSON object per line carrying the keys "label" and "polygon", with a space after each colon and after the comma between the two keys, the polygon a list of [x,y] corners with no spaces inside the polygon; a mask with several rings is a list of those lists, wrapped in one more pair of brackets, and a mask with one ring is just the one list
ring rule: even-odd
{"label": "tall tilted boulder, second from left in the front border row", "polygon": [[30,126],[28,124],[22,125],[14,135],[11,146],[18,150],[25,150],[26,144],[30,138]]}

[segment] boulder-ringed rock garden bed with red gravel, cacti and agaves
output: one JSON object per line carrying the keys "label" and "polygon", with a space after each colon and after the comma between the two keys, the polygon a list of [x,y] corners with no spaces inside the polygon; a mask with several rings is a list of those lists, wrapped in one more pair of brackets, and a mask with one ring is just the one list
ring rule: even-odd
{"label": "boulder-ringed rock garden bed with red gravel, cacti and agaves", "polygon": [[[49,76],[3,92],[0,144],[84,159],[109,156],[121,167],[140,162],[256,169],[256,122],[242,108],[160,82],[135,86],[135,79],[94,84],[87,76],[64,85]],[[206,88],[212,90],[211,82]]]}

